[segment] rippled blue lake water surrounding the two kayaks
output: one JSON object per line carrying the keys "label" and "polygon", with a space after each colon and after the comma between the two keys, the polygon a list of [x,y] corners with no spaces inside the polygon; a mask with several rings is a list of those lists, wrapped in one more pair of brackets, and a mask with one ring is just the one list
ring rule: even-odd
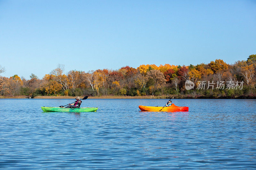
{"label": "rippled blue lake water surrounding the two kayaks", "polygon": [[72,99],[1,99],[0,169],[255,169],[256,100],[87,99],[97,112],[42,112]]}

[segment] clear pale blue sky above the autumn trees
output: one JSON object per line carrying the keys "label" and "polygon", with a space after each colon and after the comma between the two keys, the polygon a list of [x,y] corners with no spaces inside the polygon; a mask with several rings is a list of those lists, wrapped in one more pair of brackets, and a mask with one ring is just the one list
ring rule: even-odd
{"label": "clear pale blue sky above the autumn trees", "polygon": [[0,0],[1,75],[234,63],[256,54],[255,11],[255,0]]}

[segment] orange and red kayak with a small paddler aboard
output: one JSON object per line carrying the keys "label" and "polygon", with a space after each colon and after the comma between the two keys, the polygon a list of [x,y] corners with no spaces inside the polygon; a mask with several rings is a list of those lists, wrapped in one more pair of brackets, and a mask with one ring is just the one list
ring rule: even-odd
{"label": "orange and red kayak with a small paddler aboard", "polygon": [[153,112],[177,112],[188,111],[188,107],[179,107],[172,104],[169,107],[153,107],[153,106],[139,106],[141,111],[153,111]]}

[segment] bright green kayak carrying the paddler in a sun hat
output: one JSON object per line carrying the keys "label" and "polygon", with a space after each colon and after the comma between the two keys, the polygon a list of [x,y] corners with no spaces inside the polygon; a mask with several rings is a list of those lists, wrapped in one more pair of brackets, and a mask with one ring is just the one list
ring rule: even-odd
{"label": "bright green kayak carrying the paddler in a sun hat", "polygon": [[61,107],[41,107],[44,112],[96,112],[98,107],[61,108]]}

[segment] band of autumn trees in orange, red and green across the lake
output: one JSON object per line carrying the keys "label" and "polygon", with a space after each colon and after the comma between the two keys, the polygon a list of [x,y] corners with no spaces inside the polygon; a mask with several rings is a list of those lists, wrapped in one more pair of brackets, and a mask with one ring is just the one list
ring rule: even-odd
{"label": "band of autumn trees in orange, red and green across the lake", "polygon": [[[227,64],[216,59],[208,64],[197,65],[140,65],[118,70],[70,70],[64,74],[64,65],[44,78],[39,79],[31,73],[30,79],[13,75],[0,76],[0,95],[29,96],[172,96],[176,98],[255,98],[256,55],[247,60]],[[0,66],[0,73],[5,72]],[[186,89],[186,81],[195,85]],[[208,88],[196,88],[204,83]],[[214,83],[213,83],[214,82]],[[236,88],[235,83],[243,82]],[[223,88],[218,88],[222,83]],[[230,83],[234,86],[230,86]],[[211,84],[211,88],[209,85]]]}

